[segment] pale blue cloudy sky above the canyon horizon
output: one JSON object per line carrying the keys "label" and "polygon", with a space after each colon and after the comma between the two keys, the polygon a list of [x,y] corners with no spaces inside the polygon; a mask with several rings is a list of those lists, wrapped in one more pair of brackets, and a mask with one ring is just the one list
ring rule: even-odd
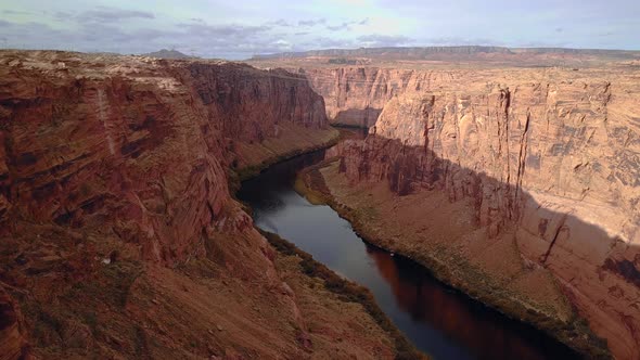
{"label": "pale blue cloudy sky above the canyon horizon", "polygon": [[640,0],[0,0],[0,48],[203,57],[422,46],[640,50]]}

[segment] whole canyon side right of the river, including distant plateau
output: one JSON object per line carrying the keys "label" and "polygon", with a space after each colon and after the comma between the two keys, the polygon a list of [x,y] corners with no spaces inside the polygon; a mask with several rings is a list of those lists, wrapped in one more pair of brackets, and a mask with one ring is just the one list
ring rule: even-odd
{"label": "whole canyon side right of the river, including distant plateau", "polygon": [[567,54],[252,64],[306,75],[331,121],[369,128],[305,178],[368,241],[593,357],[636,359],[638,54]]}

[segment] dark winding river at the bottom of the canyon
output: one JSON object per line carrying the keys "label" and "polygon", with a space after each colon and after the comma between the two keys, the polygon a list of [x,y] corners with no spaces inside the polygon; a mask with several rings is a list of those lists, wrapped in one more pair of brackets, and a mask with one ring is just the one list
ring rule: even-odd
{"label": "dark winding river at the bottom of the canyon", "polygon": [[331,207],[294,190],[296,172],[324,152],[277,164],[242,184],[257,227],[278,233],[341,275],[367,286],[395,325],[434,359],[574,359],[567,347],[453,291],[424,267],[363,242]]}

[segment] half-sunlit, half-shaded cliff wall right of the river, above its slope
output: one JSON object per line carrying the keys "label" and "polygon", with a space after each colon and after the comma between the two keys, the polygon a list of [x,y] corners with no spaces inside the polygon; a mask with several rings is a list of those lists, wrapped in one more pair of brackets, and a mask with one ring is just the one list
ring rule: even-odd
{"label": "half-sunlit, half-shaded cliff wall right of the river, above its slope", "polygon": [[470,200],[485,236],[514,239],[523,259],[550,270],[613,353],[635,359],[639,75],[430,74],[424,78],[459,82],[406,87],[366,141],[338,149],[341,170],[353,183],[387,181],[398,195],[438,190],[451,203]]}

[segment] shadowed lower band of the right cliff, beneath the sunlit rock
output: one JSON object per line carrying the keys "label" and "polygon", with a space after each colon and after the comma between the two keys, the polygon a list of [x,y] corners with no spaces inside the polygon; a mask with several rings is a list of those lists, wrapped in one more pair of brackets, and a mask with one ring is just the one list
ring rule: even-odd
{"label": "shadowed lower band of the right cliff, beneath the sunlit rock", "polygon": [[[527,166],[535,167],[526,157],[517,168],[516,183],[512,184],[440,158],[425,146],[408,146],[397,139],[374,134],[364,141],[345,142],[338,153],[342,155],[340,171],[346,172],[354,182],[388,181],[389,189],[399,196],[423,189],[444,191],[450,203],[471,198],[476,229],[486,229],[488,239],[496,240],[512,233],[521,256],[526,259],[525,266],[550,270],[574,309],[589,320],[599,336],[607,339],[616,357],[640,355],[640,304],[637,300],[640,297],[640,249],[581,220],[571,209],[560,213],[538,203],[521,187]],[[384,265],[379,263],[379,267]],[[394,278],[388,274],[387,279]],[[401,283],[389,282],[394,283],[397,298],[407,308],[415,308],[414,301],[437,301],[428,298],[428,294],[407,296]],[[446,313],[415,316],[446,317]],[[571,327],[563,332],[561,337],[565,339],[575,335]],[[580,345],[584,349],[602,346],[598,338],[589,338]]]}

